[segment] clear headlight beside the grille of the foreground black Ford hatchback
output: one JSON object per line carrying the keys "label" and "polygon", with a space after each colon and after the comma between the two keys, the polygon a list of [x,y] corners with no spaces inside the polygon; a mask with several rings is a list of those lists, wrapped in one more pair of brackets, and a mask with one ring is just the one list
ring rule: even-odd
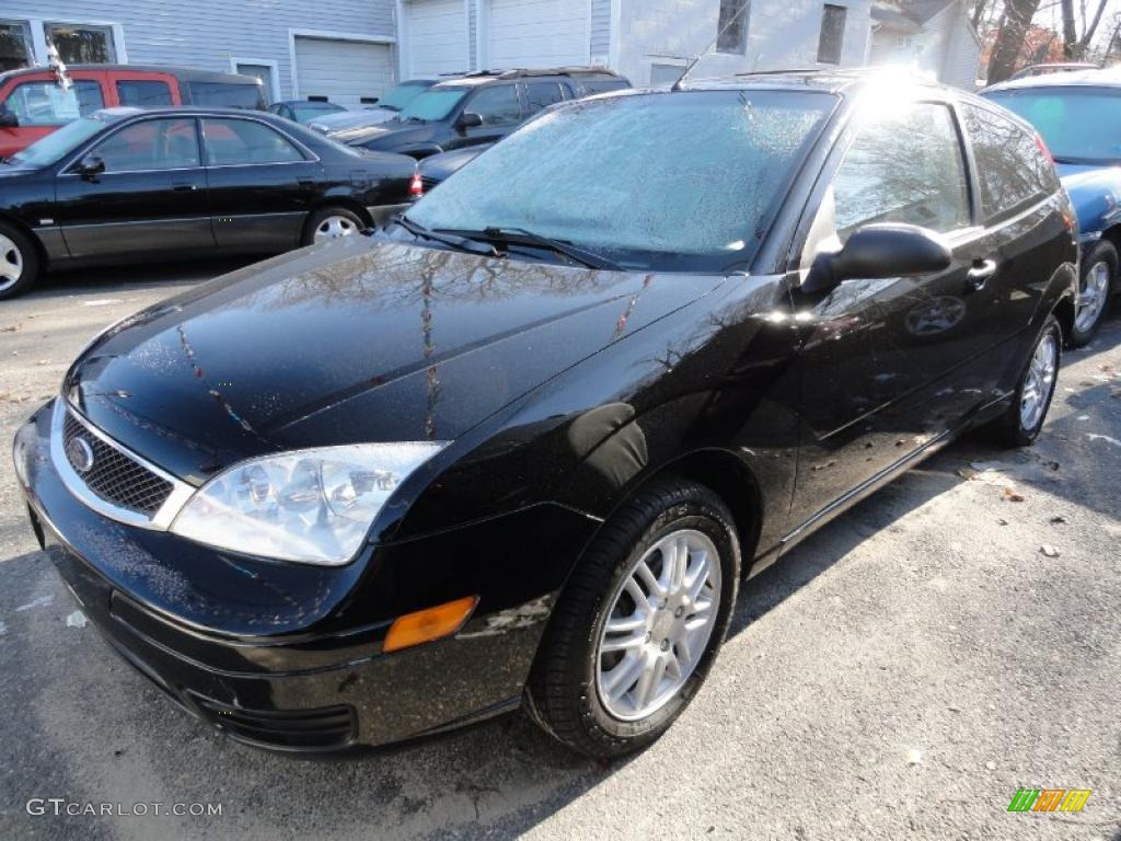
{"label": "clear headlight beside the grille of the foreground black Ford hatchback", "polygon": [[200,488],[172,532],[248,555],[345,564],[397,486],[444,446],[356,444],[244,461]]}

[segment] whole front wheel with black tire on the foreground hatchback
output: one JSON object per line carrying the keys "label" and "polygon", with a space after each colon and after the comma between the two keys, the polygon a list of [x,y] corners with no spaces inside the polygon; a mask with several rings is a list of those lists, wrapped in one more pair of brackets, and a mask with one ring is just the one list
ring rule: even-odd
{"label": "whole front wheel with black tire on the foreground hatchback", "polygon": [[[728,632],[740,579],[733,523],[720,497],[682,479],[652,482],[615,514],[581,558],[549,619],[526,687],[530,717],[573,750],[600,759],[630,754],[660,737],[701,687]],[[633,588],[647,600],[658,591],[631,576],[639,575],[636,570],[645,561],[666,583],[668,555],[658,547],[675,542],[688,548],[680,589],[658,599],[663,609],[643,602],[650,619],[637,619],[642,608]],[[710,557],[707,569],[703,555]],[[702,571],[705,577],[696,585]],[[697,592],[692,601],[691,589]],[[605,631],[609,619],[641,626]],[[609,647],[628,645],[601,651],[601,640]],[[661,669],[657,683],[646,680],[650,688],[643,705],[645,672],[633,681],[623,676],[631,668],[622,668],[628,657],[631,664]],[[605,686],[615,678],[613,697]]]}

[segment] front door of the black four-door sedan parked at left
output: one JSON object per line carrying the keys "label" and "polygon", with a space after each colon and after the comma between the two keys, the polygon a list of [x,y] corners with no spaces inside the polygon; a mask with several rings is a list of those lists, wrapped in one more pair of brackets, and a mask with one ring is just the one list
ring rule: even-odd
{"label": "front door of the black four-door sedan parked at left", "polygon": [[[81,163],[90,159],[104,170],[83,174]],[[55,195],[72,257],[214,248],[192,117],[133,120],[110,131],[56,176]]]}

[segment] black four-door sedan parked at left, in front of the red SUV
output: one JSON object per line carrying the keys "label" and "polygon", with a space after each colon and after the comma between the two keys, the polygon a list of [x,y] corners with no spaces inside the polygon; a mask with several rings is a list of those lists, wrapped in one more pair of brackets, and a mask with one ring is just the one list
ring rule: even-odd
{"label": "black four-door sedan parked at left, in front of the red SUV", "polygon": [[48,267],[346,235],[406,202],[415,168],[263,112],[94,111],[0,163],[0,298]]}

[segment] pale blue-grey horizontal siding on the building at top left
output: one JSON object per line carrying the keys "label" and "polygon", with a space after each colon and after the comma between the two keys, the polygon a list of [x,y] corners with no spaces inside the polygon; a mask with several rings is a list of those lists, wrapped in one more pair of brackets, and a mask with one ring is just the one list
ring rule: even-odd
{"label": "pale blue-grey horizontal siding on the building at top left", "polygon": [[392,40],[392,0],[0,0],[0,17],[120,24],[131,64],[229,72],[230,57],[278,63],[291,95],[289,29]]}

